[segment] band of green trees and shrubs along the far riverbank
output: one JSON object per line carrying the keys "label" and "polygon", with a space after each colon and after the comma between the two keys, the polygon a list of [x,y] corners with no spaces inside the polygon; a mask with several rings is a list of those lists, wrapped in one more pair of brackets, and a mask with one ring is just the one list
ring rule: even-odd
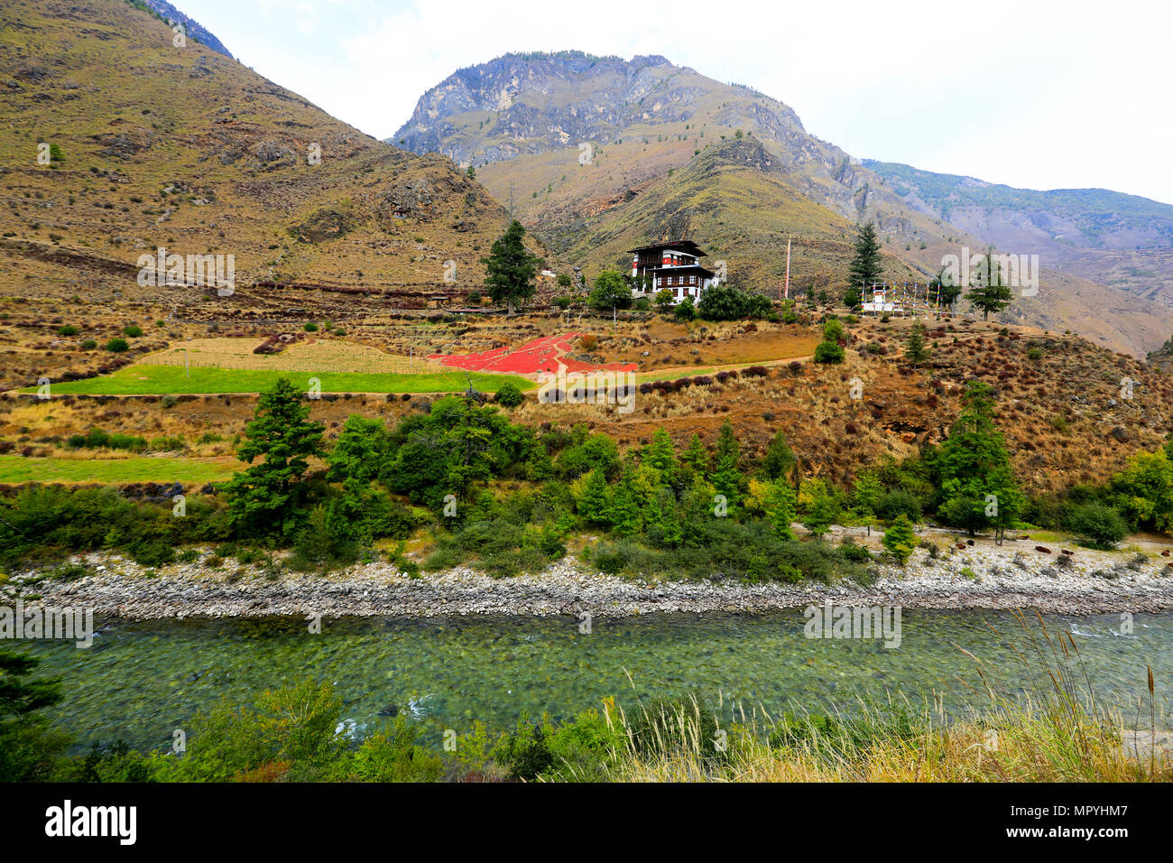
{"label": "band of green trees and shrubs along the far riverbank", "polygon": [[[516,392],[503,387],[497,400],[516,404]],[[872,554],[823,542],[832,524],[886,526],[883,546],[899,562],[916,545],[914,525],[929,518],[971,535],[1066,530],[1094,548],[1130,531],[1173,530],[1171,445],[1138,452],[1104,485],[1028,494],[990,390],[976,382],[940,446],[886,459],[847,487],[804,476],[781,432],[754,463],[727,422],[713,451],[696,434],[676,447],[664,430],[621,451],[585,425],[535,430],[483,402],[475,392],[440,398],[393,427],[354,414],[327,451],[308,399],[282,379],[237,447],[249,467],[189,495],[182,517],[171,497],[27,485],[0,503],[0,565],[48,566],[104,548],[156,567],[211,542],[264,557],[274,573],[385,555],[411,575],[466,562],[508,575],[540,571],[577,544],[611,574],[866,584]]]}

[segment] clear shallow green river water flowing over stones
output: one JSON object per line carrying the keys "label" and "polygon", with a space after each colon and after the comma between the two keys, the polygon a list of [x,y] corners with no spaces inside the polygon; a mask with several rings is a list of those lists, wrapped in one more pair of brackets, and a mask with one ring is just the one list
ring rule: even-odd
{"label": "clear shallow green river water flowing over stones", "polygon": [[[986,703],[975,662],[1006,690],[1042,688],[1040,666],[1024,667],[1011,646],[1031,654],[1029,632],[1005,612],[913,612],[901,618],[900,646],[880,639],[804,635],[802,609],[769,614],[659,614],[596,618],[590,632],[574,618],[343,618],[321,621],[189,619],[99,621],[89,649],[73,642],[26,642],[40,672],[63,677],[65,700],[50,715],[81,744],[123,740],[165,748],[201,708],[223,696],[239,704],[266,688],[313,677],[337,685],[345,719],[360,729],[406,712],[433,729],[493,729],[528,713],[555,719],[598,707],[605,696],[697,693],[711,707],[794,704],[850,709],[855,695],[937,694],[951,712]],[[1084,672],[1103,703],[1132,716],[1153,667],[1158,713],[1171,706],[1173,615],[1044,615],[1052,639],[1072,633]],[[994,627],[991,629],[991,626]],[[1047,661],[1050,648],[1042,642]]]}

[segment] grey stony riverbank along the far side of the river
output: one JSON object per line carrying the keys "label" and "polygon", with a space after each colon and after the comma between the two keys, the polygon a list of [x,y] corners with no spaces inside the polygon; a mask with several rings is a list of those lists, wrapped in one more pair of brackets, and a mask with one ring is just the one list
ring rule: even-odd
{"label": "grey stony riverbank along the far side of the river", "polygon": [[[1066,558],[1066,560],[1064,560]],[[93,608],[130,619],[266,615],[529,614],[628,616],[664,612],[762,612],[830,600],[908,608],[1031,608],[1062,614],[1173,611],[1173,567],[1157,554],[1036,551],[1008,542],[918,550],[908,566],[876,564],[876,580],[823,585],[631,579],[591,572],[570,559],[534,575],[493,579],[470,568],[408,578],[386,562],[330,575],[201,564],[145,571],[113,555],[80,559],[91,575],[14,577],[9,594],[46,606]]]}

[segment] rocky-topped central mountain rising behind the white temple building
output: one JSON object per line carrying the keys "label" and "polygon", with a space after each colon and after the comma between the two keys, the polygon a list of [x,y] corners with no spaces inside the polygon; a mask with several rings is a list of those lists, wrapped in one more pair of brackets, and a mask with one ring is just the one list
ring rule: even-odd
{"label": "rocky-topped central mountain rising behind the white temple building", "polygon": [[[774,294],[792,237],[792,284],[839,291],[854,227],[866,221],[894,279],[923,283],[961,247],[1029,251],[1003,245],[979,220],[924,205],[909,183],[807,133],[785,103],[663,56],[507,54],[429,89],[391,141],[472,166],[588,272],[626,269],[625,249],[684,231],[710,261],[727,262],[732,281]],[[1141,213],[1159,216],[1155,207],[1133,203],[1138,224]],[[1101,281],[1094,267],[1051,256],[1042,264],[1038,296],[1019,297],[1001,319],[1137,355],[1173,329],[1160,302]]]}

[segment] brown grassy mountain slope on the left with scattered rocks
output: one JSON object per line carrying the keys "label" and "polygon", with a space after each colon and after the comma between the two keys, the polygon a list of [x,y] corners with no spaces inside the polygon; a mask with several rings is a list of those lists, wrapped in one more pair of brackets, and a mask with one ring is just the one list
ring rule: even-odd
{"label": "brown grassy mountain slope on the left with scattered rocks", "polygon": [[[475,180],[172,36],[124,0],[0,8],[0,292],[264,317],[481,285],[507,214]],[[235,295],[140,285],[158,248],[232,255]]]}

